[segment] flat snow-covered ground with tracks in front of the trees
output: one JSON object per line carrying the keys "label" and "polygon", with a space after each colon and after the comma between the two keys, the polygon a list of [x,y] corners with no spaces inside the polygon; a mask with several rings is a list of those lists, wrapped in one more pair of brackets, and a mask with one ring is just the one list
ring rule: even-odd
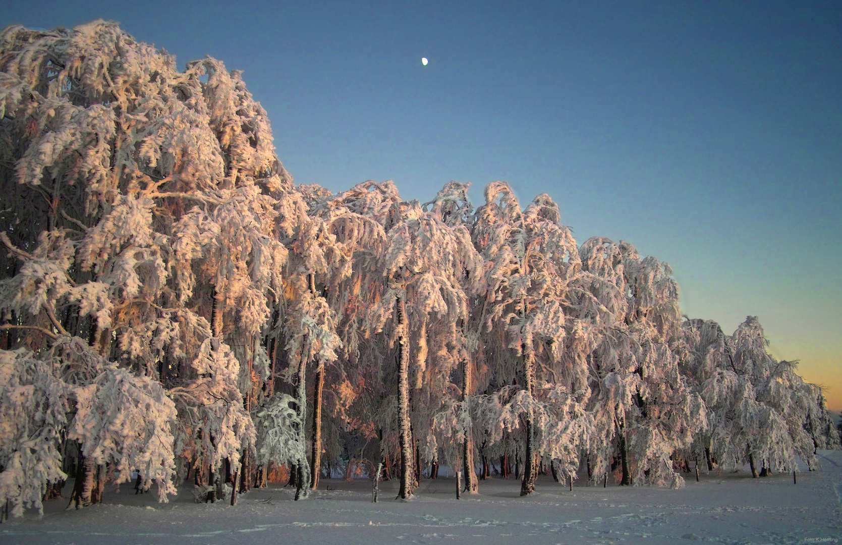
{"label": "flat snow-covered ground with tracks in front of the trees", "polygon": [[[232,507],[196,504],[189,486],[157,504],[124,484],[106,490],[103,505],[64,510],[45,505],[38,519],[0,526],[0,543],[120,545],[135,543],[823,543],[842,538],[842,451],[821,451],[823,470],[752,479],[739,473],[685,474],[684,489],[567,486],[541,477],[538,493],[492,478],[480,494],[456,500],[453,478],[424,479],[416,498],[395,501],[397,482],[323,479],[310,500],[269,485]],[[69,488],[66,489],[66,494]]]}

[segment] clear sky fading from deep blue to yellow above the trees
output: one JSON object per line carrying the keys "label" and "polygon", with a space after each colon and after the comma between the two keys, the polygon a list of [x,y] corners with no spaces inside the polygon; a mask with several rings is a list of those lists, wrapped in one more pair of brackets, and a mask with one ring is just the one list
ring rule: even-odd
{"label": "clear sky fading from deep blue to yellow above the trees", "polygon": [[838,1],[7,4],[243,70],[298,183],[546,192],[579,243],[669,262],[690,317],[759,316],[842,410]]}

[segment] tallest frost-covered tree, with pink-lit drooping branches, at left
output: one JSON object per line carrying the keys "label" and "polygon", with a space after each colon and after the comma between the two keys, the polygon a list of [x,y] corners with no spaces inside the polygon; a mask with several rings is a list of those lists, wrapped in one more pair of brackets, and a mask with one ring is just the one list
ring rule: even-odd
{"label": "tallest frost-covered tree, with pink-lit drooping branches, at left", "polygon": [[0,48],[3,137],[22,156],[3,184],[27,188],[10,193],[6,225],[30,195],[49,203],[3,235],[23,262],[4,281],[7,329],[35,350],[87,336],[92,353],[171,388],[176,454],[236,467],[253,441],[237,375],[265,357],[237,361],[226,340],[253,345],[286,259],[275,204],[291,179],[264,110],[221,62],[178,72],[112,23],[13,26]]}

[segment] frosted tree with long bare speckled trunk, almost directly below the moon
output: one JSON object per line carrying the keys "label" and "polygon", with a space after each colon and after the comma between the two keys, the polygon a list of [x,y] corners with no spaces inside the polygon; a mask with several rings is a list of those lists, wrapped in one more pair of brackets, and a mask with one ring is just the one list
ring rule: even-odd
{"label": "frosted tree with long bare speckled trunk, almost directly below the moon", "polygon": [[[375,264],[381,271],[383,294],[370,310],[366,329],[380,332],[388,328],[390,344],[397,344],[399,495],[406,499],[412,495],[415,473],[409,373],[413,371],[416,388],[424,385],[430,327],[441,328],[442,334],[448,335],[445,340],[458,340],[454,337],[456,323],[468,317],[466,289],[478,289],[482,259],[473,248],[466,227],[448,226],[438,214],[423,211],[417,201],[397,203],[390,213],[392,217],[385,229],[386,247]],[[466,282],[468,279],[470,282]],[[439,372],[449,375],[449,370]]]}

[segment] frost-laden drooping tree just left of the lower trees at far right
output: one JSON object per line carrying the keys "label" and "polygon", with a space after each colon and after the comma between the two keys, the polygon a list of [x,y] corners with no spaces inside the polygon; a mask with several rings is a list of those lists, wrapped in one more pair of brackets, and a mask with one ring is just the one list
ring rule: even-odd
{"label": "frost-laden drooping tree just left of the lower trees at far right", "polygon": [[[705,405],[690,392],[679,369],[684,350],[678,286],[672,270],[653,257],[641,259],[628,243],[592,238],[579,248],[596,302],[610,311],[590,361],[601,444],[616,441],[622,484],[670,484],[674,451],[689,448],[706,426]],[[612,447],[613,448],[613,447]],[[599,449],[597,465],[608,451]]]}

